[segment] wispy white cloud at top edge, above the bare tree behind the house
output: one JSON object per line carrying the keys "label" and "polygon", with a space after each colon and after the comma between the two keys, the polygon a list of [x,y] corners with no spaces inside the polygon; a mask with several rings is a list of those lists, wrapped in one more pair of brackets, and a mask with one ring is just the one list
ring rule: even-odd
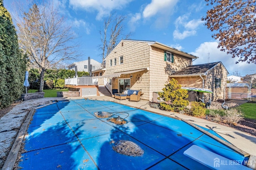
{"label": "wispy white cloud at top edge, above the bare tree behind the house", "polygon": [[82,8],[86,11],[97,11],[96,20],[110,14],[112,10],[122,9],[132,0],[70,0],[74,8]]}

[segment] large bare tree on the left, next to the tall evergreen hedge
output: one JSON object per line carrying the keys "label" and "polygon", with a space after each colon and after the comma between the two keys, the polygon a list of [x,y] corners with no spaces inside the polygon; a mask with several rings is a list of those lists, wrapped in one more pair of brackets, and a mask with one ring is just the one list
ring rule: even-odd
{"label": "large bare tree on the left, next to the tall evergreen hedge", "polygon": [[28,54],[30,66],[40,71],[39,92],[42,92],[45,71],[62,61],[76,59],[78,46],[74,43],[76,36],[72,27],[54,8],[53,1],[46,0],[39,4],[28,0],[27,4],[30,8],[28,12],[22,8],[24,4],[15,6],[14,19],[18,26],[20,48]]}

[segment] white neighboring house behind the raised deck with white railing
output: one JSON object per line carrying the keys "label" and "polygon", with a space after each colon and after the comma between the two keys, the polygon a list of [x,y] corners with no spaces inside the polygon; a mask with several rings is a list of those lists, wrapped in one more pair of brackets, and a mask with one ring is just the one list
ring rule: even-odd
{"label": "white neighboring house behind the raised deck with white railing", "polygon": [[[95,61],[94,59],[90,59],[90,64],[92,65],[92,71],[101,68],[101,63]],[[77,71],[89,72],[88,60],[72,63],[68,66],[68,70],[75,70],[75,66],[77,66]]]}

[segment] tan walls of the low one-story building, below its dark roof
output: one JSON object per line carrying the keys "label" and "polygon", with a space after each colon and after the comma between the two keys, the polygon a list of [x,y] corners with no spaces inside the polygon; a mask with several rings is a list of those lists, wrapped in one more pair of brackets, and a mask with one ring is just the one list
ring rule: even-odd
{"label": "tan walls of the low one-story building, below its dark roof", "polygon": [[[224,68],[222,64],[216,65],[212,68],[206,76],[202,75],[204,78],[204,88],[212,90],[212,94],[204,93],[204,100],[208,101],[209,98],[212,101],[216,101],[218,99],[225,99],[226,94],[226,86],[227,86],[227,75],[228,72]],[[177,77],[175,78],[181,86],[184,87],[195,87],[195,88],[202,88],[203,81],[200,76],[193,76],[193,77]],[[220,87],[215,86],[215,78],[221,78]],[[199,97],[202,97],[202,93],[199,94]]]}

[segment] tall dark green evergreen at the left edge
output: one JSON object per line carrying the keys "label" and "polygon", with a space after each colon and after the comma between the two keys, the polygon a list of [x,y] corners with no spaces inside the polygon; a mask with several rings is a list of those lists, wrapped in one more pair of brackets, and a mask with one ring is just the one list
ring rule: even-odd
{"label": "tall dark green evergreen at the left edge", "polygon": [[0,0],[0,108],[7,107],[23,93],[26,57],[18,46],[18,37],[10,13]]}

